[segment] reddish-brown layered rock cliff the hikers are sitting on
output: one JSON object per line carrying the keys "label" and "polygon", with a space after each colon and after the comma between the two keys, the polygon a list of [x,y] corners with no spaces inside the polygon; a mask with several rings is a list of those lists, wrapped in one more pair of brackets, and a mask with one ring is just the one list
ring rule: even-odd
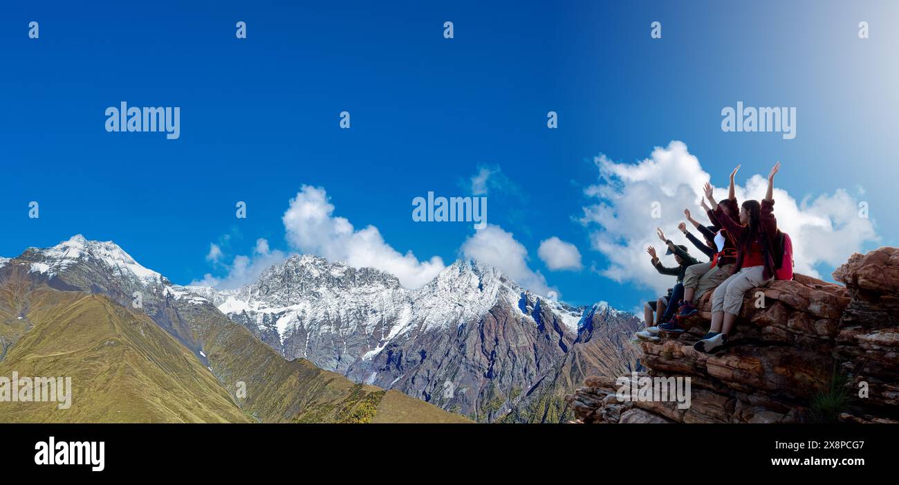
{"label": "reddish-brown layered rock cliff the hikers are sitting on", "polygon": [[833,278],[842,284],[797,274],[746,292],[717,355],[693,349],[708,329],[708,294],[689,332],[640,343],[647,370],[627,382],[690,377],[689,407],[619,400],[626,382],[608,376],[566,400],[583,423],[899,422],[899,248],[855,254]]}

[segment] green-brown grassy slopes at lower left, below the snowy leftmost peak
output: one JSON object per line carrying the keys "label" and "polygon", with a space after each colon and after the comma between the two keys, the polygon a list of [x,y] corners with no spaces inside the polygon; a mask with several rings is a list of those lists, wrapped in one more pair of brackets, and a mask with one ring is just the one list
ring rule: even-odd
{"label": "green-brown grassy slopes at lower left, below the snowy leftmost peak", "polygon": [[102,294],[49,288],[15,266],[0,271],[0,343],[0,376],[70,376],[74,388],[66,410],[0,402],[2,422],[470,422],[287,361],[208,303],[132,310]]}

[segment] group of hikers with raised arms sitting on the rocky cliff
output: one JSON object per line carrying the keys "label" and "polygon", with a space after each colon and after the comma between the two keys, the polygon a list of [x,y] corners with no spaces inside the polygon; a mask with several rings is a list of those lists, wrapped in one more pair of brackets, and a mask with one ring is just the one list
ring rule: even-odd
{"label": "group of hikers with raised arms sitting on the rocky cliff", "polygon": [[646,252],[652,257],[655,269],[660,274],[676,276],[677,283],[668,290],[667,296],[645,303],[646,328],[636,333],[638,339],[654,342],[660,340],[660,332],[679,334],[686,331],[685,320],[699,312],[699,299],[711,291],[711,328],[694,347],[699,352],[715,354],[726,348],[743,306],[743,293],[766,286],[774,279],[793,278],[792,243],[789,236],[778,229],[774,217],[774,175],[780,170],[780,162],[771,168],[768,192],[761,202],[745,201],[737,205],[734,176],[739,169],[737,166],[731,172],[726,200],[715,200],[711,184],[706,183],[703,187],[706,197],[702,208],[711,221],[710,226],[703,226],[693,219],[689,209],[684,209],[684,216],[702,239],[691,234],[686,223],[678,225],[693,246],[708,257],[707,263],[700,263],[690,256],[686,246],[675,245],[665,238],[662,229],[656,228],[658,237],[668,247],[665,255],[673,255],[677,266],[663,265],[652,246],[646,248]]}

